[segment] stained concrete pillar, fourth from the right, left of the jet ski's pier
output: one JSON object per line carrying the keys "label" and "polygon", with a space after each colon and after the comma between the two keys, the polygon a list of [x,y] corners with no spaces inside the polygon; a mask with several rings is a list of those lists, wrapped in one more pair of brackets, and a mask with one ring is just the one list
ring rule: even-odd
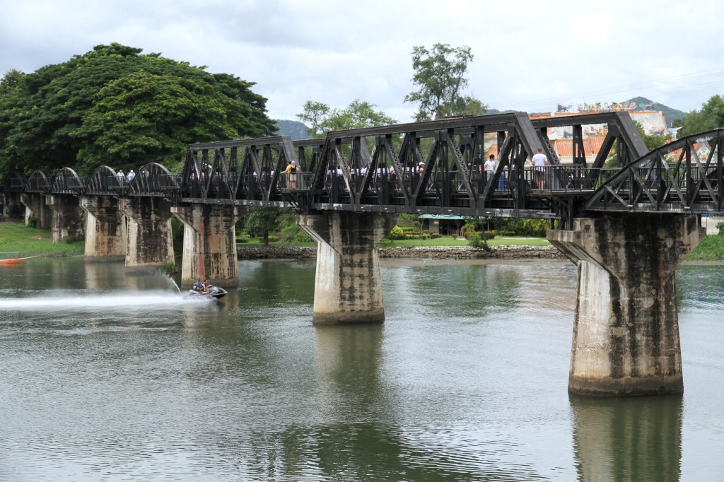
{"label": "stained concrete pillar, fourth from the right, left of the jet ski's pier", "polygon": [[169,201],[138,196],[122,199],[119,207],[127,219],[126,268],[173,263]]}

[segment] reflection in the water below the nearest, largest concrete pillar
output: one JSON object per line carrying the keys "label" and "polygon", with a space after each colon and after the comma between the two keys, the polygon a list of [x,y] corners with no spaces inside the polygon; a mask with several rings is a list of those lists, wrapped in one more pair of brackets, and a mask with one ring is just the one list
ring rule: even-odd
{"label": "reflection in the water below the nearest, largest concrete pillar", "polygon": [[678,481],[681,395],[570,400],[579,480]]}

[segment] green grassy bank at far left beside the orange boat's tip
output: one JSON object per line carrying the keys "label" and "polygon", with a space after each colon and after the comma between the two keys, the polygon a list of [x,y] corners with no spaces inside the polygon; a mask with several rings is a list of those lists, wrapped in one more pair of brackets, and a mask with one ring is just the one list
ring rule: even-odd
{"label": "green grassy bank at far left beside the orange boat's tip", "polygon": [[0,259],[25,256],[82,256],[85,245],[80,242],[52,242],[50,229],[36,229],[19,221],[0,222]]}

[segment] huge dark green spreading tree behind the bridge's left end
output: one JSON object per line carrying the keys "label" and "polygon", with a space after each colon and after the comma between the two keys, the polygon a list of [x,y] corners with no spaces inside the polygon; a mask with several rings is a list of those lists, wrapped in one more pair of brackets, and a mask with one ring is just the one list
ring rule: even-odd
{"label": "huge dark green spreading tree behind the bridge's left end", "polygon": [[0,172],[171,165],[189,143],[276,130],[253,83],[111,43],[0,82]]}

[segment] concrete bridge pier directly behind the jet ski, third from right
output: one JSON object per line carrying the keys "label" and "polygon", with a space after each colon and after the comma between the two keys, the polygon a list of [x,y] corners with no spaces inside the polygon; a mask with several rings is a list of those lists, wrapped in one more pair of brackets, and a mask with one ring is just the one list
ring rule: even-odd
{"label": "concrete bridge pier directly behind the jet ski, third from right", "polygon": [[239,284],[235,231],[238,209],[209,204],[171,208],[184,224],[182,284],[190,286],[199,278],[221,287]]}

